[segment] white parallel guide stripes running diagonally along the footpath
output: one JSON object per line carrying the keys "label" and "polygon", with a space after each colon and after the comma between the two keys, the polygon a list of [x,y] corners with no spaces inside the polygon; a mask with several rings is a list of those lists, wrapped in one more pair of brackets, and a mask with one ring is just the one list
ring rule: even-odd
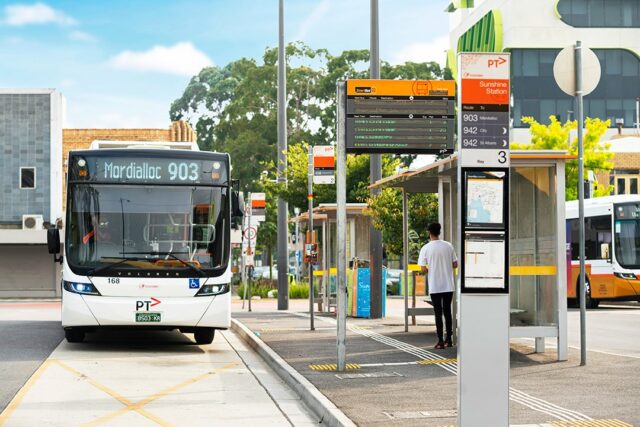
{"label": "white parallel guide stripes running diagonally along the footpath", "polygon": [[[296,316],[299,317],[308,317],[307,314],[304,313],[292,313]],[[318,319],[324,321],[324,322],[328,322],[328,323],[335,323],[336,320],[335,319],[329,319],[326,317],[317,317]],[[443,360],[445,359],[444,357],[440,356],[439,354],[436,353],[432,353],[430,351],[424,350],[420,347],[416,347],[414,345],[411,344],[407,344],[403,341],[399,341],[395,338],[391,338],[391,337],[387,337],[385,335],[379,334],[377,332],[373,332],[373,331],[366,331],[366,330],[362,330],[360,328],[358,328],[357,326],[350,326],[349,324],[347,324],[347,329],[349,329],[352,332],[355,332],[359,335],[365,336],[365,337],[369,337],[371,339],[373,339],[374,341],[380,342],[382,344],[386,344],[390,347],[394,347],[398,350],[401,350],[405,353],[409,353],[409,354],[413,354],[414,356],[423,359],[423,360]],[[453,374],[453,375],[458,375],[458,366],[456,363],[438,363],[436,366],[441,367],[442,369],[444,369],[445,371]],[[580,412],[577,411],[573,411],[571,409],[567,409],[567,408],[563,408],[561,406],[555,405],[551,402],[547,402],[546,400],[543,399],[539,399],[537,397],[531,396],[527,393],[524,393],[518,389],[515,389],[513,387],[509,387],[509,399],[517,402],[523,406],[528,407],[529,409],[533,409],[534,411],[537,412],[542,412],[544,414],[550,415],[556,419],[562,420],[562,421],[590,421],[592,420],[591,417],[582,414]]]}

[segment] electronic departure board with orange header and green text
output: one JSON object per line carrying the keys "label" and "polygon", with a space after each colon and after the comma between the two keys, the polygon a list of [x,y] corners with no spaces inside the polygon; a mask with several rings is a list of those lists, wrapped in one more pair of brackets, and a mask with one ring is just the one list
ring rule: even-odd
{"label": "electronic departure board with orange header and green text", "polygon": [[455,82],[347,80],[348,153],[453,152]]}

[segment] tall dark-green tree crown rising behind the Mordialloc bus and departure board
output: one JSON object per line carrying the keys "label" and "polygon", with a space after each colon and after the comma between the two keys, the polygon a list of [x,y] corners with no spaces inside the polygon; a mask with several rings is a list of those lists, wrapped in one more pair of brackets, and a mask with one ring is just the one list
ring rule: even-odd
{"label": "tall dark-green tree crown rising behind the Mordialloc bus and departure board", "polygon": [[[241,58],[224,67],[204,68],[170,108],[172,120],[186,119],[201,149],[228,152],[233,177],[244,190],[258,187],[260,174],[277,161],[277,49],[266,49],[262,62]],[[336,81],[368,76],[368,50],[338,56],[303,43],[286,47],[287,135],[289,147],[306,141],[335,141]],[[434,62],[381,64],[382,78],[438,79],[447,71]],[[405,164],[412,157],[403,157]],[[365,160],[356,160],[358,165]],[[366,187],[364,182],[362,186]],[[364,197],[355,190],[351,199]]]}

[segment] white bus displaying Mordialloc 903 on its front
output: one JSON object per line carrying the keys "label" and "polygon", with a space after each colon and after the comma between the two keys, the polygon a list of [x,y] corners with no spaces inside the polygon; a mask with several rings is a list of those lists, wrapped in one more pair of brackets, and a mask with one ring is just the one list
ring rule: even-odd
{"label": "white bus displaying Mordialloc 903 on its front", "polygon": [[[185,146],[94,142],[69,154],[64,255],[56,257],[67,341],[138,327],[179,329],[208,344],[230,326],[230,229],[243,201],[227,154]],[[48,244],[60,253],[57,229]]]}

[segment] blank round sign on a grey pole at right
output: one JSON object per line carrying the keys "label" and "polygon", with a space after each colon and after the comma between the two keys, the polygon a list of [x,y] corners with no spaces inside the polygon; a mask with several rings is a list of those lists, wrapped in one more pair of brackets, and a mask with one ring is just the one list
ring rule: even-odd
{"label": "blank round sign on a grey pole at right", "polygon": [[[564,93],[576,96],[575,48],[565,47],[553,63],[553,76]],[[588,47],[582,46],[582,95],[588,95],[600,82],[600,61]]]}

